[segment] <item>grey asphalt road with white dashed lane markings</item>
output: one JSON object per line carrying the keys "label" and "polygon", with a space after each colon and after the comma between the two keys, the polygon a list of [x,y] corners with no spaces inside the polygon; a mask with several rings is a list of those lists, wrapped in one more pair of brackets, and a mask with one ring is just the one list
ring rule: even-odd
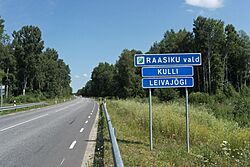
{"label": "grey asphalt road with white dashed lane markings", "polygon": [[91,99],[0,117],[0,167],[80,167],[98,105]]}

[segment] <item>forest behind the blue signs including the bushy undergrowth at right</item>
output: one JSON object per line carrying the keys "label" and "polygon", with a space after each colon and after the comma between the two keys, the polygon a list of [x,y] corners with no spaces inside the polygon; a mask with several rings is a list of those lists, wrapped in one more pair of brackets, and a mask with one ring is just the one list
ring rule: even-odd
{"label": "forest behind the blue signs including the bushy undergrowth at right", "polygon": [[[141,68],[134,67],[133,62],[134,55],[141,53],[124,49],[115,64],[99,63],[77,94],[145,99],[148,90],[142,89]],[[250,38],[246,32],[222,20],[199,16],[193,21],[192,32],[168,30],[146,53],[201,53],[202,65],[194,67],[189,102],[205,105],[217,118],[250,127]],[[185,89],[154,89],[152,94],[159,102],[178,101]]]}

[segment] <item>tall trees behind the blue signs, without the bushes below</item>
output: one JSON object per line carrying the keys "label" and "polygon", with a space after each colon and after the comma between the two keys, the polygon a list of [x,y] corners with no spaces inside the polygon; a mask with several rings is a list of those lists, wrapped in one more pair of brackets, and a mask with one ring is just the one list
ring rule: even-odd
{"label": "tall trees behind the blue signs, without the bushes below", "polygon": [[[168,30],[159,42],[154,42],[147,53],[201,53],[202,66],[194,68],[194,92],[214,95],[228,89],[237,92],[250,85],[250,38],[243,30],[222,20],[199,16],[193,31]],[[124,49],[113,65],[101,62],[93,69],[91,80],[78,91],[84,96],[115,96],[119,98],[145,97],[141,88],[141,69],[134,67],[133,57],[139,50]],[[170,89],[157,89],[178,94]],[[179,92],[181,93],[181,92]]]}

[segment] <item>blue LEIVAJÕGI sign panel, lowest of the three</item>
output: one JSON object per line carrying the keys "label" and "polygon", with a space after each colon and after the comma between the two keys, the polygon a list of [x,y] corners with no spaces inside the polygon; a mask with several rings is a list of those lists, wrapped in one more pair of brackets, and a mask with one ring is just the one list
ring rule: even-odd
{"label": "blue LEIVAJ\u00d5GI sign panel, lowest of the three", "polygon": [[193,87],[193,77],[182,78],[142,78],[142,88]]}

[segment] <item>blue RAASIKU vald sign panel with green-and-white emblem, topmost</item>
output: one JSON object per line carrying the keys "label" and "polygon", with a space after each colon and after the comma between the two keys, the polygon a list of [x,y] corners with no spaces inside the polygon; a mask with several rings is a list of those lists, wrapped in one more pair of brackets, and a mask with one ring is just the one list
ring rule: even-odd
{"label": "blue RAASIKU vald sign panel with green-and-white emblem, topmost", "polygon": [[166,66],[166,65],[201,65],[200,53],[172,53],[172,54],[136,54],[134,65]]}

